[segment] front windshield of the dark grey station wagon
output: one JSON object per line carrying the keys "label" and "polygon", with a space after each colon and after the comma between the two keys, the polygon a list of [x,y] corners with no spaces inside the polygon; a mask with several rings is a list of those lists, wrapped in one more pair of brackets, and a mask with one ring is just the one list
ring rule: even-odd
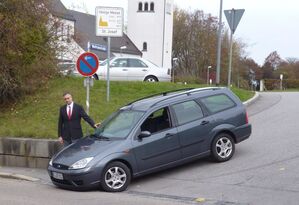
{"label": "front windshield of the dark grey station wagon", "polygon": [[120,110],[108,117],[96,129],[95,136],[109,139],[126,138],[143,114],[144,112],[141,111]]}

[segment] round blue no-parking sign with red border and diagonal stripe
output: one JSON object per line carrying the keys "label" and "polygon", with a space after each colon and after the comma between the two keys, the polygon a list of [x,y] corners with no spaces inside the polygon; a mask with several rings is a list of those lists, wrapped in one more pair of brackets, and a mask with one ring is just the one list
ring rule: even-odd
{"label": "round blue no-parking sign with red border and diagonal stripe", "polygon": [[99,67],[98,57],[91,52],[83,53],[77,60],[77,70],[83,76],[92,76]]}

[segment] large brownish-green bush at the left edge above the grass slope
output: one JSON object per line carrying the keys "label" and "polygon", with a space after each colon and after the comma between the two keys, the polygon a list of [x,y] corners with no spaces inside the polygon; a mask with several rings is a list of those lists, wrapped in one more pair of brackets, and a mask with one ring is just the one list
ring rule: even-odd
{"label": "large brownish-green bush at the left edge above the grass slope", "polygon": [[0,2],[0,103],[14,102],[56,72],[56,40],[46,0]]}

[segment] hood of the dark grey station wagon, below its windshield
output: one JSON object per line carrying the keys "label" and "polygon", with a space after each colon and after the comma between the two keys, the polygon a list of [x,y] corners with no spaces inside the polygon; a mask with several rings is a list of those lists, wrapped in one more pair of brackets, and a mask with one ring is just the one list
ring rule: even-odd
{"label": "hood of the dark grey station wagon, below its windshield", "polygon": [[[87,158],[95,157],[105,153],[109,149],[117,147],[124,140],[99,140],[86,137],[78,140],[76,143],[64,148],[53,159],[53,163],[71,166],[75,162]],[[103,155],[103,157],[105,157]]]}

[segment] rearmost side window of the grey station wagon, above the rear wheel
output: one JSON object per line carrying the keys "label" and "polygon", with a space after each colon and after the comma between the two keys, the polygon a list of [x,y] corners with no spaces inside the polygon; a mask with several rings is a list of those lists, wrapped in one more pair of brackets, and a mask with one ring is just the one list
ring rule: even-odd
{"label": "rearmost side window of the grey station wagon, above the rear wheel", "polygon": [[209,112],[216,113],[234,107],[236,104],[225,94],[213,95],[200,99]]}

